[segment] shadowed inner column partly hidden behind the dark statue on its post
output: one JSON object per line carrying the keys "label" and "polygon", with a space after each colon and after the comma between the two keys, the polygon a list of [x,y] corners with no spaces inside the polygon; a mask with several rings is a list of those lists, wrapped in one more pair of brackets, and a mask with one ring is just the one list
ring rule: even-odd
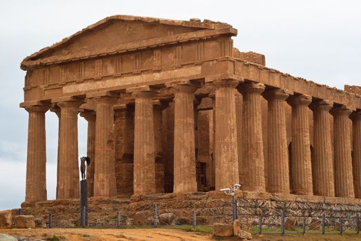
{"label": "shadowed inner column partly hidden behind the dark statue on its post", "polygon": [[80,116],[83,116],[88,121],[88,138],[86,145],[86,156],[90,158],[90,165],[86,167],[86,180],[88,185],[88,197],[94,196],[94,171],[95,171],[95,111],[85,110],[81,112]]}

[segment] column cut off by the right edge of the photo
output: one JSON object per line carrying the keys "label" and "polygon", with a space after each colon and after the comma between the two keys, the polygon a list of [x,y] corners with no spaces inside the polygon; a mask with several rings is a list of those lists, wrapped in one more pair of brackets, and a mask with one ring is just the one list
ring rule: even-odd
{"label": "column cut off by the right edge of the photo", "polygon": [[355,198],[361,198],[361,110],[352,114],[353,126],[353,183]]}

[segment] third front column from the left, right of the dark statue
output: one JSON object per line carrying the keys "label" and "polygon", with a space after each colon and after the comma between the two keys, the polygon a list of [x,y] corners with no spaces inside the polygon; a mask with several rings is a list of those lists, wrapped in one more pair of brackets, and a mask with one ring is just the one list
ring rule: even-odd
{"label": "third front column from the left, right of the dark statue", "polygon": [[117,196],[115,180],[115,160],[108,154],[107,143],[114,123],[113,105],[116,98],[101,96],[95,98],[95,171],[94,171],[94,196]]}

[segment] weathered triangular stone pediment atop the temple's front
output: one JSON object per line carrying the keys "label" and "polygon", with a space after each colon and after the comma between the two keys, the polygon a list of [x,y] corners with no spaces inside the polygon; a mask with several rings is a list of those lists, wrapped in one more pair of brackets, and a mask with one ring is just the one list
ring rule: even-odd
{"label": "weathered triangular stone pediment atop the temple's front", "polygon": [[93,53],[114,50],[117,46],[139,43],[150,39],[161,39],[179,34],[229,28],[226,23],[212,21],[176,21],[148,17],[116,15],[107,17],[83,30],[72,34],[59,43],[39,50],[24,59],[23,63],[57,59],[57,56],[77,56],[79,53]]}

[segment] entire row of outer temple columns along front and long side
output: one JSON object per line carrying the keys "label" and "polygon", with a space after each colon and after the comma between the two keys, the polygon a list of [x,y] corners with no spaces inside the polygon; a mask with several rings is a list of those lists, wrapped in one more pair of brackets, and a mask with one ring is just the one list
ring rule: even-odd
{"label": "entire row of outer temple columns along front and long side", "polygon": [[[243,145],[241,158],[244,190],[289,193],[289,156],[286,140],[286,102],[292,106],[292,189],[300,195],[361,196],[361,113],[353,113],[353,158],[351,158],[351,110],[310,96],[289,96],[280,89],[265,90],[262,83],[222,79],[215,87],[215,189],[239,182],[235,87],[243,95]],[[191,82],[175,85],[174,183],[175,193],[197,191],[195,173],[195,116]],[[154,90],[129,90],[135,98],[134,193],[155,193],[156,156]],[[268,160],[263,156],[261,98],[268,101]],[[114,160],[107,158],[108,134],[114,122],[110,94],[95,99],[96,112],[84,112],[88,121],[88,156],[96,161],[94,196],[116,196]],[[53,101],[60,108],[57,198],[79,198],[77,113],[81,102]],[[311,103],[312,102],[312,103]],[[311,104],[311,105],[310,105]],[[313,110],[314,158],[311,162],[308,108]],[[331,110],[332,108],[332,110]],[[46,199],[45,112],[47,107],[26,107],[29,112],[26,200]],[[334,147],[331,126],[334,119]],[[162,111],[162,109],[161,109]],[[94,142],[95,140],[95,142]],[[334,155],[333,151],[334,149]],[[333,160],[334,156],[334,160]],[[352,163],[353,161],[353,163]],[[93,165],[94,167],[94,165]],[[91,168],[93,168],[91,167]],[[91,171],[91,169],[90,169]],[[266,171],[266,173],[265,173]],[[92,172],[90,172],[91,175]],[[89,177],[89,176],[88,176]],[[265,178],[266,177],[266,178]],[[354,188],[355,187],[355,188]],[[355,191],[354,191],[355,190]]]}

